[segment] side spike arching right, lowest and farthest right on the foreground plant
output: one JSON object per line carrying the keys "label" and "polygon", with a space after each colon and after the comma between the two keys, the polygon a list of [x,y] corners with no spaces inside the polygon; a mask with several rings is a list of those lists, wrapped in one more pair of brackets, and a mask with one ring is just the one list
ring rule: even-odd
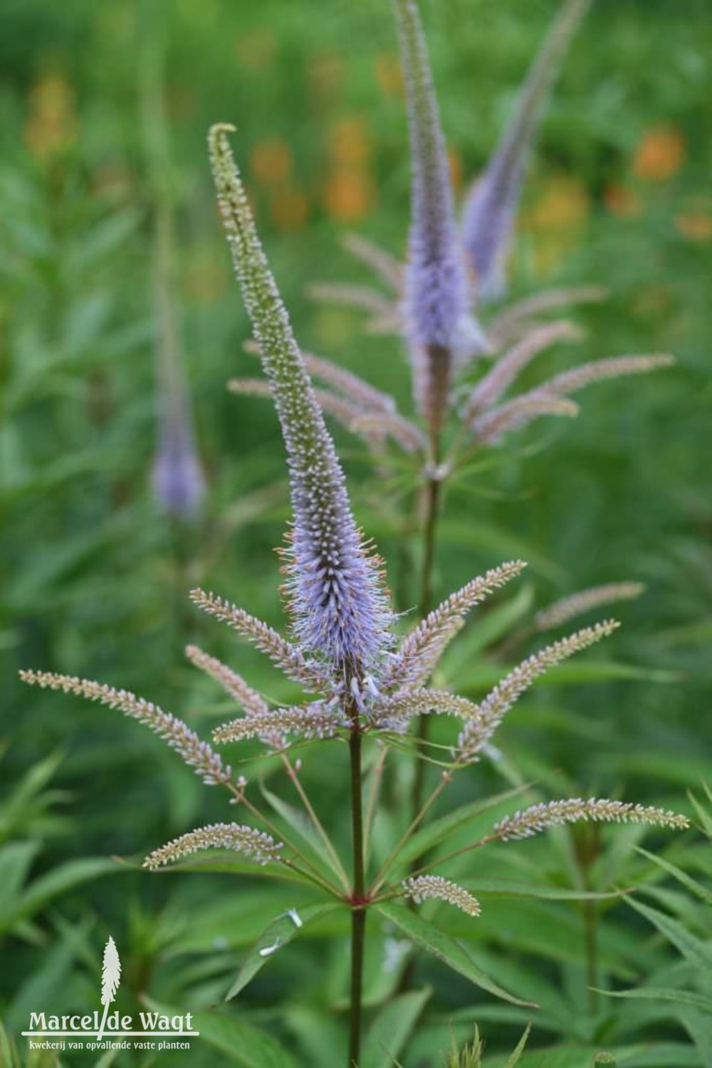
{"label": "side spike arching right, lowest and farthest right on the foreground plant", "polygon": [[608,801],[599,798],[568,798],[566,801],[549,801],[532,805],[523,812],[496,823],[487,839],[499,838],[510,842],[515,838],[531,838],[533,834],[553,827],[555,823],[604,822],[604,823],[651,823],[656,827],[671,827],[679,831],[690,827],[686,816],[652,805],[632,804],[627,801]]}

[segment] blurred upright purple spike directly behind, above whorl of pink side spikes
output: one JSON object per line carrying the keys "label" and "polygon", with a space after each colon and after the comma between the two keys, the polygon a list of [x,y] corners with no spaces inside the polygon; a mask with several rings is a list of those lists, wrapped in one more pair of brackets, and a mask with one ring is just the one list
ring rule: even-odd
{"label": "blurred upright purple spike directly behind, above whorl of pink side spikes", "polygon": [[453,360],[487,348],[469,308],[445,140],[415,0],[395,0],[412,157],[405,319],[416,403],[436,431],[447,407]]}

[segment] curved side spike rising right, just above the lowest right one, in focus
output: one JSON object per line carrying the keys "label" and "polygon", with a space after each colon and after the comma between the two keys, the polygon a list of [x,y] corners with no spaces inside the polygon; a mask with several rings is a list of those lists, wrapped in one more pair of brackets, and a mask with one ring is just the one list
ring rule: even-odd
{"label": "curved side spike rising right, just above the lowest right one, in focus", "polygon": [[515,702],[540,675],[561,660],[573,656],[574,653],[580,653],[602,638],[607,638],[618,626],[614,619],[607,619],[604,623],[597,623],[595,627],[584,627],[583,630],[577,630],[574,634],[563,638],[559,642],[554,642],[553,645],[548,645],[527,657],[509,672],[479,703],[476,714],[465,723],[458,738],[458,758],[476,759]]}

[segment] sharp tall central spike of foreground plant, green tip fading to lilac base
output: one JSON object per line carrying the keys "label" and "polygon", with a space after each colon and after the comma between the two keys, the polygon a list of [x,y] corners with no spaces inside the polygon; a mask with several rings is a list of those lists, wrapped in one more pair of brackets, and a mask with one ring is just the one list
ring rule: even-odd
{"label": "sharp tall central spike of foreground plant, green tip fading to lilac base", "polygon": [[377,562],[364,550],[344,473],[255,230],[227,143],[213,126],[210,160],[242,297],[272,387],[291,484],[289,586],[296,633],[334,668],[368,669],[390,642],[392,616]]}

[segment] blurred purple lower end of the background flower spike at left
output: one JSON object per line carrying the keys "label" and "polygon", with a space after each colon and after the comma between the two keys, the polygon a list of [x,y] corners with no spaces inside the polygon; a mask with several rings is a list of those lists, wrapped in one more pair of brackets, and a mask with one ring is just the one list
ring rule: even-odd
{"label": "blurred purple lower end of the background flower spike at left", "polygon": [[205,481],[187,411],[162,421],[153,482],[156,499],[168,515],[189,519],[200,511]]}

